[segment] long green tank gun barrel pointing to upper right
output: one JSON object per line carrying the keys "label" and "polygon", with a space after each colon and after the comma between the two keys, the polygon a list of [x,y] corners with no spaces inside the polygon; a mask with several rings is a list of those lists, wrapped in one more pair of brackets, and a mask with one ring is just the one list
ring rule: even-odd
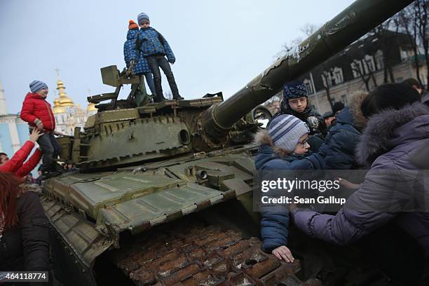
{"label": "long green tank gun barrel pointing to upper right", "polygon": [[355,1],[244,88],[207,109],[202,116],[205,132],[212,139],[224,137],[236,121],[273,97],[287,81],[317,67],[411,2],[413,0]]}

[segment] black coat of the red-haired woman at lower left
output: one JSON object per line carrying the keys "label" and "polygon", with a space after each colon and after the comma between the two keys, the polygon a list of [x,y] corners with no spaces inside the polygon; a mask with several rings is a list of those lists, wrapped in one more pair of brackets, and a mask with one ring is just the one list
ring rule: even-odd
{"label": "black coat of the red-haired woman at lower left", "polygon": [[18,224],[0,240],[0,271],[48,271],[48,219],[39,196],[27,191],[16,203]]}

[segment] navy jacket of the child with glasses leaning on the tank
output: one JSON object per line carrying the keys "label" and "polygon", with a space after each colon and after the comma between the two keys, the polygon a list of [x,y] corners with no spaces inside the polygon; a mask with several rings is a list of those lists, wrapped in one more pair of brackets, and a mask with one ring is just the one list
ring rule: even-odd
{"label": "navy jacket of the child with glasses leaning on the tank", "polygon": [[[291,155],[280,158],[268,145],[261,145],[254,160],[257,170],[317,170],[324,168],[318,154],[310,156]],[[262,249],[271,251],[281,245],[287,245],[289,211],[285,208],[276,212],[261,212]]]}

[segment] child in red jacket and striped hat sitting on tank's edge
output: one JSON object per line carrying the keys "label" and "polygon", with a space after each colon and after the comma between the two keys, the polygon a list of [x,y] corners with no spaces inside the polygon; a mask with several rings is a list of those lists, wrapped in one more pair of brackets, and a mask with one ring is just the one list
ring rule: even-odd
{"label": "child in red jacket and striped hat sitting on tank's edge", "polygon": [[31,93],[27,93],[22,103],[21,119],[27,121],[30,130],[36,128],[43,131],[37,143],[41,147],[42,165],[41,171],[44,175],[49,172],[58,172],[59,166],[54,159],[60,154],[61,146],[55,139],[55,117],[50,104],[46,101],[48,86],[42,81],[33,81],[29,84]]}

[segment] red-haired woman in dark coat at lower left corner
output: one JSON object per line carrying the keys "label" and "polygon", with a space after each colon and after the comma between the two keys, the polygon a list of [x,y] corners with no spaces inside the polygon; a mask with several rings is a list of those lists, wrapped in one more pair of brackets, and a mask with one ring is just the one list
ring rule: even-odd
{"label": "red-haired woman in dark coat at lower left corner", "polygon": [[36,193],[23,193],[20,184],[12,173],[0,172],[0,269],[48,271],[48,219]]}

